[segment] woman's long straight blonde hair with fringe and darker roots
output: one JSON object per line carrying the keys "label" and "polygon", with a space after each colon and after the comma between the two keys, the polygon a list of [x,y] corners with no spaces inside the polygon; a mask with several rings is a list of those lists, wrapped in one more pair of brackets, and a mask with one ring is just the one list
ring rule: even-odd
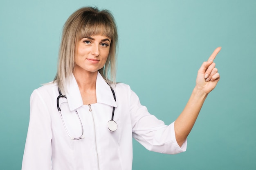
{"label": "woman's long straight blonde hair with fringe and darker roots", "polygon": [[[105,35],[111,39],[108,59],[99,73],[107,83],[115,83],[117,26],[113,15],[108,10],[100,11],[97,7],[83,7],[75,11],[63,27],[61,46],[58,57],[58,70],[54,82],[61,92],[65,92],[70,76],[74,71],[76,43],[83,37]],[[108,78],[110,74],[110,79]]]}

